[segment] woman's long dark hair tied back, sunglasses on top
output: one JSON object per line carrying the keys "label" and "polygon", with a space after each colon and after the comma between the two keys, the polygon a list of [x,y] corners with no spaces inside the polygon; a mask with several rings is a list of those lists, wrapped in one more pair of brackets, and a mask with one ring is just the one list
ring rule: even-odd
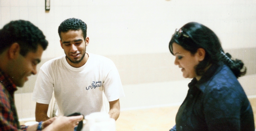
{"label": "woman's long dark hair tied back, sunglasses on top", "polygon": [[243,76],[246,73],[244,63],[239,59],[233,60],[229,53],[225,54],[216,34],[200,23],[190,22],[181,27],[180,30],[176,30],[169,42],[169,50],[172,55],[173,43],[179,44],[185,50],[190,51],[192,55],[197,52],[198,48],[203,48],[205,50],[204,60],[199,62],[195,67],[198,76],[202,76],[204,74],[204,69],[210,64],[215,64],[220,61],[229,66],[236,78]]}

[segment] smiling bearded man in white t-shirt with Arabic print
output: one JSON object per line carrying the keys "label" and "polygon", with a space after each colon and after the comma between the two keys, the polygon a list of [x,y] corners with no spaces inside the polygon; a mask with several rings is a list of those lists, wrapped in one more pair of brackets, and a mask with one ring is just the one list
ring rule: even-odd
{"label": "smiling bearded man in white t-shirt with Arabic print", "polygon": [[65,55],[40,68],[32,96],[37,102],[36,121],[49,119],[47,111],[53,91],[60,115],[100,112],[104,91],[109,101],[108,114],[115,120],[119,117],[119,97],[124,97],[119,73],[110,59],[86,52],[86,30],[86,23],[76,18],[60,24],[60,45]]}

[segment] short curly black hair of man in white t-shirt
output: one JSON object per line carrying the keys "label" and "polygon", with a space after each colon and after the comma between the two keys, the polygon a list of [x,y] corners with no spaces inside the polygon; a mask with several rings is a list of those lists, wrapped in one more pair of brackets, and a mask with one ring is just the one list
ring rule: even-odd
{"label": "short curly black hair of man in white t-shirt", "polygon": [[87,25],[81,19],[69,18],[64,20],[58,28],[59,37],[61,39],[61,32],[68,32],[69,30],[82,30],[84,40],[86,38]]}

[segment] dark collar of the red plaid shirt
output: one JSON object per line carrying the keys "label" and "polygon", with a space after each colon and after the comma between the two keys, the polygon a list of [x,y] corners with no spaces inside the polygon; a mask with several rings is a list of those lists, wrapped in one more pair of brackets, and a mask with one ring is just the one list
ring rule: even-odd
{"label": "dark collar of the red plaid shirt", "polygon": [[8,90],[10,94],[13,94],[17,90],[16,85],[12,82],[12,80],[9,78],[7,74],[5,74],[1,69],[0,69],[0,81],[3,84],[3,86]]}

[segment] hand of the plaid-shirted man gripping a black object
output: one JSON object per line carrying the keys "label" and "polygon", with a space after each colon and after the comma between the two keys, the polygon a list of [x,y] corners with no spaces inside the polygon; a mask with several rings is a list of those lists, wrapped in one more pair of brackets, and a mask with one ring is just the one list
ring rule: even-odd
{"label": "hand of the plaid-shirted man gripping a black object", "polygon": [[[79,116],[59,116],[43,130],[47,131],[74,131],[75,126],[84,119],[83,115]],[[50,119],[49,119],[50,120]]]}

